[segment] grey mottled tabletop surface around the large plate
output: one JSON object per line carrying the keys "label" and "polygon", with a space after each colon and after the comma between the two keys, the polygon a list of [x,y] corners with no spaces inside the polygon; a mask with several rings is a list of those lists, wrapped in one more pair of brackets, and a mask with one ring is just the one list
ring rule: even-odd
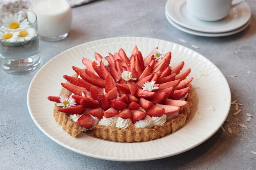
{"label": "grey mottled tabletop surface around the large plate", "polygon": [[[166,0],[98,0],[73,8],[70,35],[60,42],[40,41],[42,63],[78,44],[102,38],[140,36],[158,38],[195,49],[211,60],[225,75],[231,88],[232,100],[245,106],[209,140],[180,155],[144,162],[115,162],[86,157],[56,144],[41,132],[27,109],[27,90],[36,71],[27,75],[9,75],[0,69],[0,169],[234,169],[255,170],[256,155],[256,3],[247,0],[252,8],[252,22],[235,35],[207,38],[189,35],[175,29],[166,20]],[[178,39],[186,40],[186,43]],[[247,74],[250,68],[251,74]],[[228,75],[238,75],[229,77]],[[245,113],[254,115],[246,122]],[[244,123],[249,129],[238,126]],[[232,128],[233,135],[227,132]],[[89,146],[90,147],[90,146]]]}

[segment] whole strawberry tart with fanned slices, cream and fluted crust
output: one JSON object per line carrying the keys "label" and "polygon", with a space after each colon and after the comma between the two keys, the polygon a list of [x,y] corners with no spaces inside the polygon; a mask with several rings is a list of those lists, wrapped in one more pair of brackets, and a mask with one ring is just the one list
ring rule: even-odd
{"label": "whole strawberry tart with fanned slices, cream and fluted crust", "polygon": [[72,66],[64,75],[66,95],[49,96],[54,118],[73,137],[94,130],[99,138],[120,142],[148,141],[175,132],[189,118],[191,69],[184,62],[171,67],[171,52],[156,47],[143,58],[137,46],[127,57],[123,49],[95,61],[83,58],[85,69]]}

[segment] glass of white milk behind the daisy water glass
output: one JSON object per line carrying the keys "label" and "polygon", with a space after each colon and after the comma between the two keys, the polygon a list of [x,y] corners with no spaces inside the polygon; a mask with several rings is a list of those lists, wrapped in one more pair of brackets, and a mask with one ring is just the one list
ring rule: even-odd
{"label": "glass of white milk behind the daisy water glass", "polygon": [[72,23],[72,10],[67,0],[34,0],[29,9],[38,20],[38,37],[58,41],[67,37]]}

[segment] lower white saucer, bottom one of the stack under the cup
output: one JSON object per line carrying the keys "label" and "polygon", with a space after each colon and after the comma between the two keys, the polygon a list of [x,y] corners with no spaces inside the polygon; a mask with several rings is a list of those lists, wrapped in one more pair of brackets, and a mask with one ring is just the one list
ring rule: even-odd
{"label": "lower white saucer, bottom one of the stack under the cup", "polygon": [[204,37],[222,37],[222,36],[232,35],[232,34],[240,32],[240,31],[243,31],[245,28],[247,28],[247,26],[249,26],[249,24],[251,22],[251,20],[249,20],[245,25],[243,25],[242,27],[240,27],[236,30],[233,30],[233,31],[228,31],[228,32],[223,32],[223,33],[205,33],[205,32],[200,32],[200,31],[194,31],[192,29],[188,29],[184,26],[177,24],[176,22],[171,20],[171,18],[168,17],[167,12],[165,13],[165,15],[166,15],[167,20],[177,29],[184,31],[186,33],[189,33],[189,34],[199,35],[199,36],[204,36]]}

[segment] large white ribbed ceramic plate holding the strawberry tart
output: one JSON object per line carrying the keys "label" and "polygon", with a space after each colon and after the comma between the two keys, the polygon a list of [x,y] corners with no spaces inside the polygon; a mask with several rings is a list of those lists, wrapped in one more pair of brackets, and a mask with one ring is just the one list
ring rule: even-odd
{"label": "large white ribbed ceramic plate holding the strawberry tart", "polygon": [[[193,80],[197,89],[193,114],[186,125],[166,137],[147,142],[119,143],[80,134],[74,138],[58,126],[52,116],[54,103],[47,96],[64,94],[61,82],[63,75],[73,75],[72,66],[83,67],[82,57],[94,60],[94,52],[108,55],[123,48],[128,55],[137,45],[143,56],[147,56],[156,46],[167,53],[171,51],[171,65],[185,62],[183,69],[191,68],[190,77],[198,77],[200,71],[209,76]],[[224,100],[224,98],[226,100]],[[170,157],[185,152],[211,137],[223,124],[230,108],[230,89],[220,70],[206,57],[179,44],[152,38],[123,37],[96,40],[75,46],[47,62],[32,79],[27,94],[29,113],[35,124],[50,139],[61,146],[83,155],[114,161],[145,161]],[[205,107],[215,106],[215,111]],[[198,118],[198,111],[202,119]]]}

